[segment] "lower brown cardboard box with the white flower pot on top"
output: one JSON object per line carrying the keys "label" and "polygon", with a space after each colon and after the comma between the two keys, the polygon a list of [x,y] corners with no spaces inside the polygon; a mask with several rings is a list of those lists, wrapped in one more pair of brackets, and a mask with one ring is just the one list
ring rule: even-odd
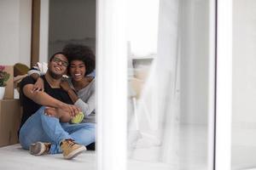
{"label": "lower brown cardboard box with the white flower pot on top", "polygon": [[18,143],[20,117],[20,99],[0,99],[0,147]]}

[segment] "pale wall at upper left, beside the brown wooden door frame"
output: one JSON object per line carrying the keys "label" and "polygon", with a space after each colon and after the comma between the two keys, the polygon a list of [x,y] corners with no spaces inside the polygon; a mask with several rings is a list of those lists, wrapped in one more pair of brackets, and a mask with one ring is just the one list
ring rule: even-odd
{"label": "pale wall at upper left, beside the brown wooden door frame", "polygon": [[0,1],[0,64],[30,65],[32,0]]}

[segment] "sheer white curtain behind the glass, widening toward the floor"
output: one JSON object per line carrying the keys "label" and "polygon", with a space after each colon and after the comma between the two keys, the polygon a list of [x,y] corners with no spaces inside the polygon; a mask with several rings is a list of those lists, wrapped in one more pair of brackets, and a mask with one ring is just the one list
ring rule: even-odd
{"label": "sheer white curtain behind the glass, widening toward the floor", "polygon": [[[143,148],[140,160],[175,163],[179,141],[179,1],[160,0],[157,54],[151,65],[141,99],[137,103],[137,140],[131,157]],[[130,136],[131,138],[131,136]],[[142,150],[142,149],[141,149]],[[151,151],[149,151],[151,150]],[[146,156],[154,154],[154,156]]]}

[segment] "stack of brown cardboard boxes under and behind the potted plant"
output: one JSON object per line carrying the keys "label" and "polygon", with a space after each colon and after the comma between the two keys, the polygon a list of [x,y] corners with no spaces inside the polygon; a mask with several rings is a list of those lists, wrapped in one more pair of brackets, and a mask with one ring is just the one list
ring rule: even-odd
{"label": "stack of brown cardboard boxes under and behind the potted plant", "polygon": [[14,99],[14,67],[6,65],[10,74],[3,99],[0,99],[0,147],[18,143],[20,100]]}

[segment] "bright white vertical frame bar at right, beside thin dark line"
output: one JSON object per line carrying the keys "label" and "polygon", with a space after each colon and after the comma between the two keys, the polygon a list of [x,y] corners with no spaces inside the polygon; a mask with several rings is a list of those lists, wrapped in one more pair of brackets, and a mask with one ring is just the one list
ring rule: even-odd
{"label": "bright white vertical frame bar at right, beside thin dark line", "polygon": [[215,169],[231,169],[232,0],[217,1]]}

